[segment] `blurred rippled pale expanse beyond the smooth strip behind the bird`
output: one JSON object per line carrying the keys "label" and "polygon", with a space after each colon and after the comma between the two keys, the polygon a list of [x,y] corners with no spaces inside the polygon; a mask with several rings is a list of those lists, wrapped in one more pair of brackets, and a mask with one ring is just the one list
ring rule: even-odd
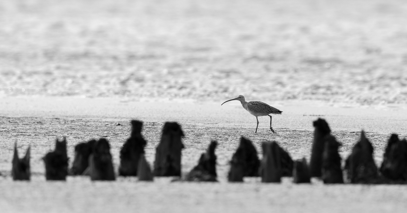
{"label": "blurred rippled pale expanse beyond the smooth strip behind the bird", "polygon": [[406,23],[405,0],[0,0],[0,97],[406,104]]}

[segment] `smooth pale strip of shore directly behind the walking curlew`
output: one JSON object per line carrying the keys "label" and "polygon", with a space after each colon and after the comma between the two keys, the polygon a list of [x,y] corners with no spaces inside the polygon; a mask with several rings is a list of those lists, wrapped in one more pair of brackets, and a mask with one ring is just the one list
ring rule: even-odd
{"label": "smooth pale strip of shore directly behind the walking curlew", "polygon": [[[0,100],[0,115],[3,117],[127,118],[150,122],[256,127],[255,117],[245,111],[239,101],[221,106],[217,102],[138,102],[122,98],[5,97]],[[333,130],[407,132],[407,104],[370,107],[340,107],[310,101],[269,104],[283,111],[282,115],[273,115],[273,128],[313,130],[311,122],[323,117]],[[259,122],[259,128],[267,128],[269,118],[259,117]]]}

